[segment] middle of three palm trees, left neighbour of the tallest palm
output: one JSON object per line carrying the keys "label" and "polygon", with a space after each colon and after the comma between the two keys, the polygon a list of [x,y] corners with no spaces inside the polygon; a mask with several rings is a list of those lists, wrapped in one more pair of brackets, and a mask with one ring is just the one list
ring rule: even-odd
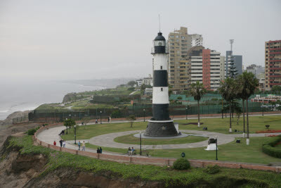
{"label": "middle of three palm trees, left neighbour of the tallest palm", "polygon": [[227,77],[226,80],[221,82],[221,87],[218,88],[223,99],[229,103],[229,132],[233,132],[231,127],[231,104],[233,100],[237,97],[237,81],[233,78]]}

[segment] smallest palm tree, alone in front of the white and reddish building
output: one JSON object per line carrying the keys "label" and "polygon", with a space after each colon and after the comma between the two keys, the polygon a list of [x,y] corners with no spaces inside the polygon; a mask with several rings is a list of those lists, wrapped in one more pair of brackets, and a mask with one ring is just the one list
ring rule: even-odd
{"label": "smallest palm tree, alone in front of the white and reddish building", "polygon": [[198,112],[198,127],[200,127],[200,106],[199,101],[201,100],[202,96],[207,92],[204,88],[204,85],[197,81],[196,83],[191,84],[190,94],[194,97],[197,101],[197,112]]}

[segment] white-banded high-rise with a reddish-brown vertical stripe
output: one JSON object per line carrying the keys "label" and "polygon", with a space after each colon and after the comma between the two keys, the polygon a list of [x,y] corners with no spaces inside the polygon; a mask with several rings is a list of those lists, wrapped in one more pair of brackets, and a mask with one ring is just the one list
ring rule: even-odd
{"label": "white-banded high-rise with a reddish-brown vertical stripe", "polygon": [[[209,90],[216,90],[221,82],[221,70],[224,70],[224,56],[215,50],[195,46],[188,51],[190,63],[190,82],[197,81]],[[223,68],[221,68],[221,65]]]}

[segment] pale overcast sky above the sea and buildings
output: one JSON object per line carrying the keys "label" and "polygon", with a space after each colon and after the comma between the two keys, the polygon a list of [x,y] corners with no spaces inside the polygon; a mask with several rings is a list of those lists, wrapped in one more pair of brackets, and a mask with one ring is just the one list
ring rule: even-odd
{"label": "pale overcast sky above the sea and buildings", "polygon": [[144,77],[152,40],[179,27],[225,56],[264,66],[264,42],[281,39],[281,1],[0,0],[0,80]]}

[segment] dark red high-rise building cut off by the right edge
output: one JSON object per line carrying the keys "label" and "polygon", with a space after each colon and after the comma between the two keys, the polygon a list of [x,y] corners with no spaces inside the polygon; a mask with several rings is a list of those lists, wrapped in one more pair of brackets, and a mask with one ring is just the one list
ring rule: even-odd
{"label": "dark red high-rise building cut off by the right edge", "polygon": [[266,90],[274,85],[281,86],[281,40],[268,41],[266,52]]}

